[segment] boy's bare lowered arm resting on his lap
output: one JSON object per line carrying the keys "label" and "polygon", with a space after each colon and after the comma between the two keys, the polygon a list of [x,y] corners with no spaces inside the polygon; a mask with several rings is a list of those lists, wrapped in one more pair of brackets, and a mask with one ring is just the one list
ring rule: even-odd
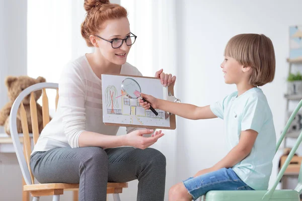
{"label": "boy's bare lowered arm resting on his lap", "polygon": [[216,171],[223,167],[230,168],[246,158],[252,151],[258,132],[254,130],[242,131],[238,145],[236,145],[222,160],[213,167],[200,170],[194,176]]}

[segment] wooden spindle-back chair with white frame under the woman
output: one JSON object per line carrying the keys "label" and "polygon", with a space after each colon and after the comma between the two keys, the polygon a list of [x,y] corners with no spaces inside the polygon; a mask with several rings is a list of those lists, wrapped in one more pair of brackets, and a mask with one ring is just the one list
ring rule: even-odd
{"label": "wooden spindle-back chair with white frame under the woman", "polygon": [[[55,97],[55,108],[57,108],[57,103],[59,99],[58,95],[58,84],[57,83],[37,83],[28,88],[24,89],[20,95],[16,98],[10,115],[10,130],[11,136],[13,139],[14,148],[17,154],[18,162],[21,167],[21,171],[26,182],[23,190],[28,191],[34,197],[33,200],[39,200],[40,196],[44,195],[53,195],[53,201],[58,201],[60,195],[63,194],[64,190],[74,190],[74,200],[78,200],[78,190],[79,184],[71,184],[71,183],[38,183],[34,184],[34,176],[32,174],[30,168],[30,154],[32,152],[31,149],[31,141],[29,138],[28,132],[28,123],[26,118],[26,112],[23,105],[23,98],[27,95],[31,94],[30,100],[30,112],[31,112],[31,121],[32,121],[32,129],[33,129],[33,141],[34,145],[36,144],[39,138],[39,130],[38,130],[38,120],[37,120],[37,107],[36,101],[34,99],[34,91],[42,90],[42,113],[43,113],[43,127],[49,122],[49,108],[48,108],[48,97],[46,95],[46,88],[56,89],[56,97]],[[23,129],[24,136],[24,152],[22,150],[22,146],[20,143],[20,139],[17,132],[17,113],[20,108],[20,116],[21,123]],[[108,183],[107,185],[107,193],[113,194],[113,199],[115,201],[120,201],[119,193],[122,192],[123,188],[128,187],[128,183]]]}

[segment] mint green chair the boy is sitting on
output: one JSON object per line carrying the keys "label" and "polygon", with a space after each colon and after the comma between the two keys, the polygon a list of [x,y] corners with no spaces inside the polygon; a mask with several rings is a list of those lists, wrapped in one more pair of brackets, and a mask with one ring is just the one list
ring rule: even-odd
{"label": "mint green chair the boy is sitting on", "polygon": [[[285,125],[285,128],[281,134],[280,139],[276,145],[276,152],[280,147],[282,140],[293,120],[296,116],[299,109],[302,107],[302,100],[300,100],[299,104],[291,114],[288,122]],[[298,177],[298,184],[294,190],[276,190],[276,186],[279,183],[281,177],[283,176],[292,156],[294,155],[295,151],[297,150],[299,144],[302,141],[302,132],[299,134],[296,143],[294,144],[293,148],[291,149],[284,165],[282,166],[281,170],[278,173],[277,179],[269,190],[211,190],[208,191],[205,196],[205,201],[300,201],[299,194],[302,191],[302,165],[299,171]],[[202,199],[203,200],[203,199]]]}

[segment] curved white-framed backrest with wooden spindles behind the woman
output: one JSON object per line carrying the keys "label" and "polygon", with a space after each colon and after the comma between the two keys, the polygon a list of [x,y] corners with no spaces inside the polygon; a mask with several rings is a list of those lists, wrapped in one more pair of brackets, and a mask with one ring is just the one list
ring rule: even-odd
{"label": "curved white-framed backrest with wooden spindles behind the woman", "polygon": [[[27,95],[31,94],[30,114],[31,114],[31,122],[32,122],[33,140],[35,145],[39,138],[39,128],[38,128],[39,125],[38,125],[38,118],[37,118],[36,100],[34,98],[34,91],[42,90],[42,116],[43,116],[43,128],[44,128],[46,124],[48,124],[49,122],[49,108],[48,108],[48,97],[45,90],[46,88],[56,89],[56,97],[55,97],[55,109],[56,109],[58,98],[59,98],[58,84],[42,82],[42,83],[31,85],[26,89],[24,89],[16,98],[10,114],[11,137],[13,139],[13,144],[18,158],[18,162],[21,167],[21,171],[27,185],[34,184],[34,176],[30,168],[30,154],[32,152],[32,149],[31,149],[31,141],[28,131],[26,111],[23,105],[23,99]],[[22,145],[17,131],[17,114],[19,108],[20,108],[23,138],[24,138],[24,151],[22,150]]]}

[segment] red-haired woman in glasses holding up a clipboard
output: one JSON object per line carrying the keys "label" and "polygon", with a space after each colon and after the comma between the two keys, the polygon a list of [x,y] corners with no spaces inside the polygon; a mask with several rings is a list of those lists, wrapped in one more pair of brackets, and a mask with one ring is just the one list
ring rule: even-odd
{"label": "red-haired woman in glasses holding up a clipboard", "polygon": [[[164,200],[166,158],[147,148],[164,134],[102,123],[101,74],[141,75],[126,58],[136,36],[126,10],[109,1],[85,1],[82,36],[95,52],[66,65],[59,81],[58,109],[32,152],[31,169],[41,183],[80,183],[79,200],[106,200],[107,182],[138,179],[137,200]],[[176,77],[159,70],[167,86]],[[129,147],[121,147],[129,146]],[[134,148],[133,148],[134,147]],[[138,148],[138,149],[135,149]]]}

